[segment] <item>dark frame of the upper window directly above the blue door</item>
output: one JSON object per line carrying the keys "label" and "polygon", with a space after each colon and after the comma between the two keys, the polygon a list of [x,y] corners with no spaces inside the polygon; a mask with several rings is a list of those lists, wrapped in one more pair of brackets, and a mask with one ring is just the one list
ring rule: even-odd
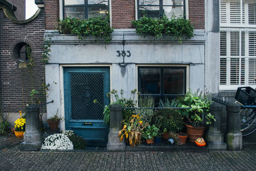
{"label": "dark frame of the upper window directly above the blue door", "polygon": [[[90,6],[104,6],[102,4],[88,4],[88,0],[84,0],[84,4],[72,4],[72,5],[65,5],[65,0],[62,0],[62,10],[63,10],[63,19],[65,19],[65,8],[66,7],[84,7],[84,19],[88,19],[88,8]],[[108,0],[108,12],[109,12],[109,0]]]}

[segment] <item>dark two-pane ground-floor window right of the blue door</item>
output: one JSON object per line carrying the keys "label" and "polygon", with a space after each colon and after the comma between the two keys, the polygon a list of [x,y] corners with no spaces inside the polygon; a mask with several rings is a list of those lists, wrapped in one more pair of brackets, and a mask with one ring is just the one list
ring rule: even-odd
{"label": "dark two-pane ground-floor window right of the blue door", "polygon": [[[141,96],[172,98],[186,93],[186,66],[138,67]],[[158,99],[158,100],[157,100]]]}

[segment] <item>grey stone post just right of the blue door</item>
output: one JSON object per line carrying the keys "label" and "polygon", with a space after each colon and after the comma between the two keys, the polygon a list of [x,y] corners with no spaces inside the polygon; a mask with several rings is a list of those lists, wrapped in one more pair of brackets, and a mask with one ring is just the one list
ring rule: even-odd
{"label": "grey stone post just right of the blue door", "polygon": [[122,129],[122,106],[110,105],[109,116],[109,134],[108,134],[108,151],[125,151],[125,142],[117,137],[119,130]]}

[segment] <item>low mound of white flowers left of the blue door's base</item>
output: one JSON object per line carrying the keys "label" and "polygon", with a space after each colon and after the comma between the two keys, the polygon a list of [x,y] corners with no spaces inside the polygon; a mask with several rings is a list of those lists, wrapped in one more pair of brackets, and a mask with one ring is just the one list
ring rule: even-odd
{"label": "low mound of white flowers left of the blue door's base", "polygon": [[55,133],[45,138],[41,149],[74,149],[72,142],[63,133]]}

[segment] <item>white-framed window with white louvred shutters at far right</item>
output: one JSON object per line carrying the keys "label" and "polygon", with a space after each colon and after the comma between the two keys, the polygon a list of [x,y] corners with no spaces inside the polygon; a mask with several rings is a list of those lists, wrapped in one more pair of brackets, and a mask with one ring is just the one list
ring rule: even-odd
{"label": "white-framed window with white louvred shutters at far right", "polygon": [[[234,4],[234,3],[233,3]],[[256,56],[251,56],[249,54],[250,51],[250,33],[256,32],[256,24],[250,24],[249,23],[249,8],[248,5],[250,4],[249,1],[243,1],[239,0],[239,9],[237,8],[237,11],[240,11],[239,18],[236,21],[232,21],[234,19],[234,14],[232,15],[230,13],[230,0],[222,2],[220,1],[220,57],[219,57],[219,63],[220,63],[220,82],[219,82],[219,89],[220,90],[236,90],[237,87],[241,86],[250,86],[255,88],[256,84],[250,82],[250,60],[255,59]],[[232,18],[233,17],[233,18]],[[221,34],[223,33],[223,34]],[[238,33],[237,38],[237,53],[238,55],[234,55],[233,53],[236,53],[236,50],[232,51],[232,48],[236,48],[231,45],[231,39],[234,44],[236,42],[234,40],[234,36],[232,38],[232,33]],[[244,36],[242,36],[242,34]],[[221,37],[223,36],[223,37]],[[242,39],[243,37],[243,39]],[[221,39],[222,38],[222,39]],[[221,48],[225,49],[224,53],[221,53]],[[226,53],[226,54],[225,54]],[[237,84],[232,83],[234,82],[234,67],[235,62],[232,63],[232,60],[239,60],[237,62],[237,72],[236,72],[236,81]],[[222,62],[222,63],[221,63]],[[222,64],[222,65],[221,65]],[[233,64],[233,65],[232,65]],[[233,68],[232,68],[233,67]],[[233,79],[233,80],[232,80]]]}

